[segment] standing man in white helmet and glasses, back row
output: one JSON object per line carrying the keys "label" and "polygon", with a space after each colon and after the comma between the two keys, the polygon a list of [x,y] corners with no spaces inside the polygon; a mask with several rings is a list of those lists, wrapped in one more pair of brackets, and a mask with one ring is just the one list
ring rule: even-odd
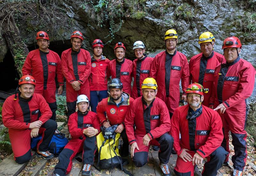
{"label": "standing man in white helmet and glasses, back row", "polygon": [[149,76],[150,66],[153,58],[145,54],[145,45],[141,41],[133,44],[133,51],[137,59],[133,60],[132,76],[134,83],[132,87],[132,98],[136,99],[142,95],[141,84]]}

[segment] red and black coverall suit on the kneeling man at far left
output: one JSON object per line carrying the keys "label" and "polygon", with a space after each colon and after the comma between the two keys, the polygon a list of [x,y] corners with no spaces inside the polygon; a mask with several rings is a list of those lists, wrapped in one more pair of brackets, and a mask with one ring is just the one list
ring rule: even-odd
{"label": "red and black coverall suit on the kneeling man at far left", "polygon": [[2,118],[4,126],[9,128],[14,160],[17,163],[26,163],[32,156],[30,150],[30,123],[37,120],[43,122],[39,133],[42,139],[37,144],[39,151],[47,151],[52,136],[57,129],[57,123],[50,119],[52,111],[44,97],[34,93],[30,99],[23,99],[20,94],[17,100],[15,95],[8,97],[3,104]]}

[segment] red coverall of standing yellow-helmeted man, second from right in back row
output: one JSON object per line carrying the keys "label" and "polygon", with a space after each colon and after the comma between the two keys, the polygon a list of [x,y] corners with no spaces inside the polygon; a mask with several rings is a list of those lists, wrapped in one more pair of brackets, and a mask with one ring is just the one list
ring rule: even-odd
{"label": "red coverall of standing yellow-helmeted man, second from right in back row", "polygon": [[208,88],[209,92],[204,94],[202,104],[209,107],[212,95],[212,84],[214,80],[214,69],[220,64],[222,55],[218,52],[212,52],[209,57],[204,57],[203,53],[193,56],[189,63],[189,84],[199,83],[204,88]]}

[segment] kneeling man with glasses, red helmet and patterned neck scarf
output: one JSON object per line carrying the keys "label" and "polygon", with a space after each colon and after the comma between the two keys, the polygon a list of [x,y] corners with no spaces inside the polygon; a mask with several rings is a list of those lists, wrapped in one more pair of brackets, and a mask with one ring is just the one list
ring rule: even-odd
{"label": "kneeling man with glasses, red helmet and patterned neck scarf", "polygon": [[215,176],[228,155],[220,146],[223,133],[219,114],[202,105],[204,93],[208,91],[198,83],[188,85],[188,105],[176,108],[172,116],[171,135],[178,155],[174,167],[177,176],[193,176],[195,165],[202,164],[204,158],[207,162],[202,175]]}

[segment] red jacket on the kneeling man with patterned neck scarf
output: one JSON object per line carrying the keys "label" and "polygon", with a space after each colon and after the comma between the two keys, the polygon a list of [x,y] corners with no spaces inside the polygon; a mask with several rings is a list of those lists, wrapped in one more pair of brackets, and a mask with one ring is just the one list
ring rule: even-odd
{"label": "red jacket on the kneeling man with patterned neck scarf", "polygon": [[[171,135],[178,156],[183,148],[192,150],[190,145],[193,145],[203,158],[220,147],[223,140],[221,118],[216,111],[202,106],[202,114],[192,120],[186,119],[189,105],[181,106],[174,111],[171,119]],[[179,139],[180,135],[181,139]]]}

